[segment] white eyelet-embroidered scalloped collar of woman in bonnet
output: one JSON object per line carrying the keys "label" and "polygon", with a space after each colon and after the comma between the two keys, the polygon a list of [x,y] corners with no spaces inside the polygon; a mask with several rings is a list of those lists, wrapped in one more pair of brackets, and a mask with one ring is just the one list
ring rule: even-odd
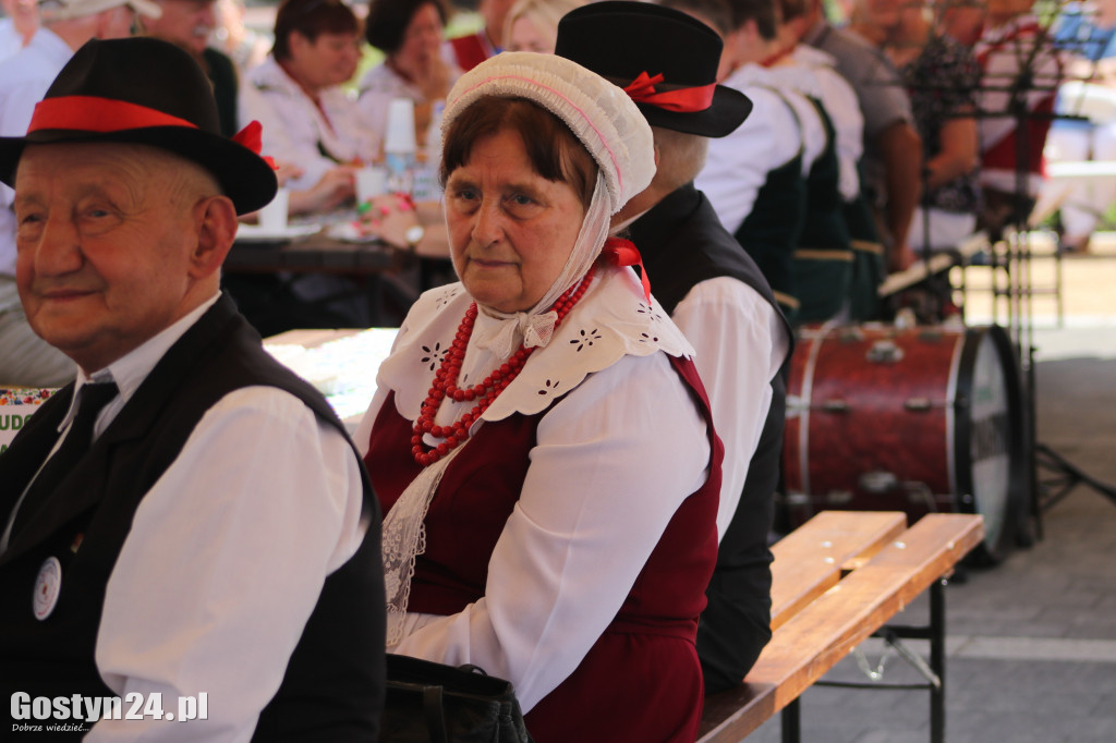
{"label": "white eyelet-embroidered scalloped collar of woman in bonnet", "polygon": [[[396,409],[407,419],[419,417],[434,372],[471,301],[460,282],[425,292],[407,316],[405,335],[381,365],[377,385],[395,393]],[[516,320],[480,313],[470,346],[480,337],[494,336],[491,326],[501,322]],[[550,342],[530,356],[481,419],[501,421],[513,413],[533,415],[625,355],[648,356],[658,350],[671,356],[693,356],[690,341],[658,301],[652,297],[648,305],[632,269],[599,268],[589,290]],[[478,379],[461,382],[465,386]]]}

